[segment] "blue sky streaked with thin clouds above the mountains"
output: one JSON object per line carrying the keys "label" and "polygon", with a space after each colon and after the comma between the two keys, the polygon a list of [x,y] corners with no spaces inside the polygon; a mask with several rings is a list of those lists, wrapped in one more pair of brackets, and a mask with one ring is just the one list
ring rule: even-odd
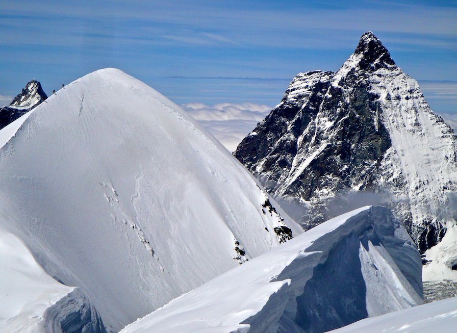
{"label": "blue sky streaked with thin clouds above the mountains", "polygon": [[300,71],[337,70],[371,30],[439,112],[457,112],[455,1],[0,3],[0,95],[104,67],[178,104],[274,106]]}

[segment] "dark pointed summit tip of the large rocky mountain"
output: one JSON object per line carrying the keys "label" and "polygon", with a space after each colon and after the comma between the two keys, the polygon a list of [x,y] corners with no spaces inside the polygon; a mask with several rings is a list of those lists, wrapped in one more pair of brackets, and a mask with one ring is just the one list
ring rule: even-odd
{"label": "dark pointed summit tip of the large rocky mountain", "polygon": [[354,55],[361,57],[359,65],[366,70],[395,65],[388,49],[371,31],[362,35]]}

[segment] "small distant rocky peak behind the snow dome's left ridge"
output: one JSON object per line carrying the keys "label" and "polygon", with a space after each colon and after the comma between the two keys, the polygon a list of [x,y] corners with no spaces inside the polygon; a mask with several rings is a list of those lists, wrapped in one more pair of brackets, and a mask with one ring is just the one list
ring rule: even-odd
{"label": "small distant rocky peak behind the snow dome's left ridge", "polygon": [[9,106],[0,108],[0,129],[43,103],[46,98],[41,84],[35,79],[30,81]]}

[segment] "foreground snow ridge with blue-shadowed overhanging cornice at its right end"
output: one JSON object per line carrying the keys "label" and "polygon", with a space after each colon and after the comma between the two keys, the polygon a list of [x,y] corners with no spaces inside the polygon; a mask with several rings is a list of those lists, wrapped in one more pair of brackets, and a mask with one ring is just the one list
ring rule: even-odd
{"label": "foreground snow ridge with blue-shadowed overhanging cornice at its right end", "polygon": [[324,332],[421,304],[421,260],[392,212],[324,222],[124,328],[122,333]]}

